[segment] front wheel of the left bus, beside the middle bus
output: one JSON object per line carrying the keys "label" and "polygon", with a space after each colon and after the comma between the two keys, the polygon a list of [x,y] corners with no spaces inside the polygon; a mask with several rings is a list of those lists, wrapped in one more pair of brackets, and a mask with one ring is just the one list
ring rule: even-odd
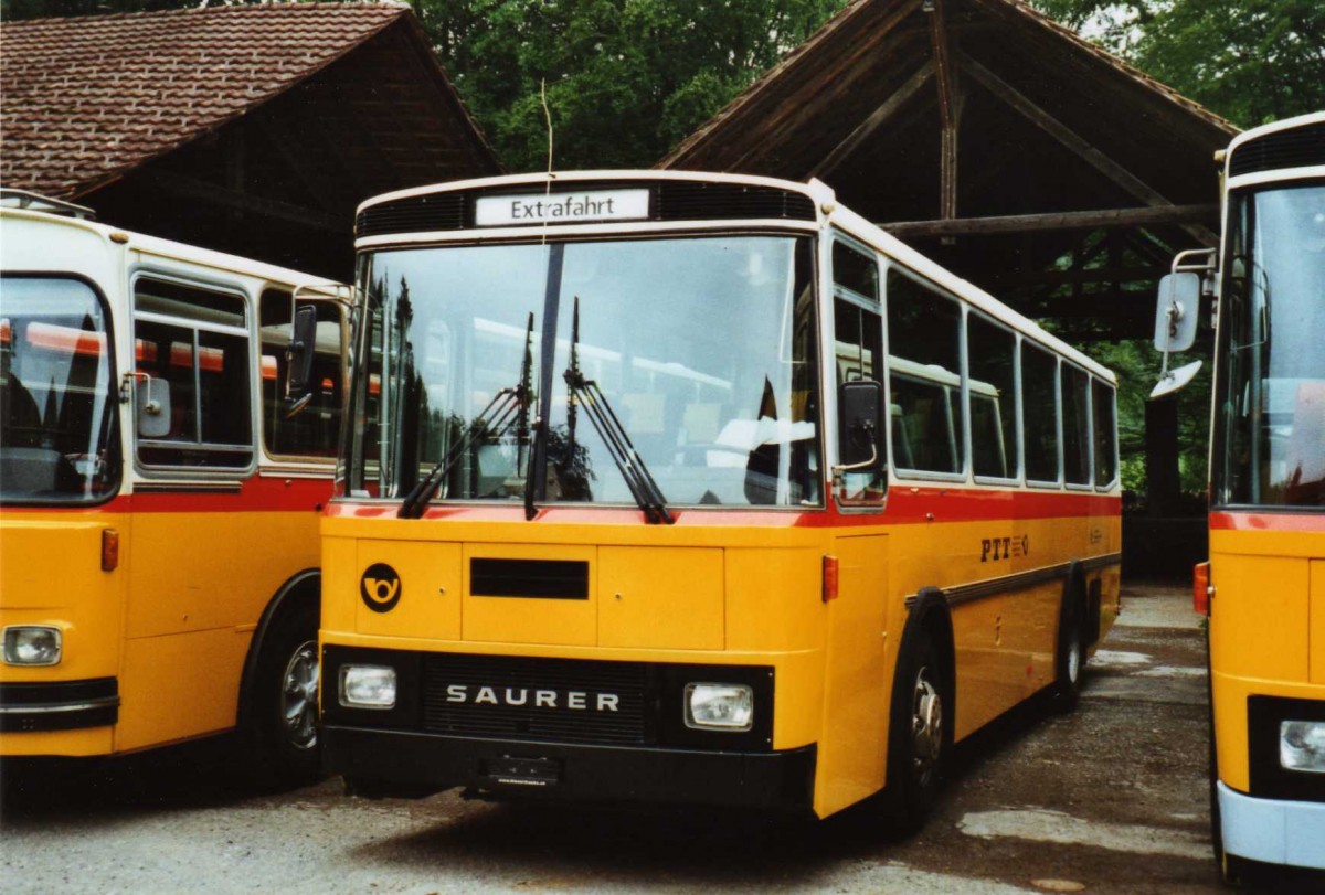
{"label": "front wheel of the left bus, beside the middle bus", "polygon": [[272,620],[249,691],[245,740],[261,789],[292,789],[321,776],[318,606],[301,601]]}

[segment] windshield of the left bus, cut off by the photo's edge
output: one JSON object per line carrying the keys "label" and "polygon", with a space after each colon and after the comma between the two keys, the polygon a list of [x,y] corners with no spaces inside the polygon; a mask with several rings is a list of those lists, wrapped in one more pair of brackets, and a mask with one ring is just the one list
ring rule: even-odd
{"label": "windshield of the left bus, cut off by the photo's edge", "polygon": [[107,322],[73,279],[0,285],[0,499],[99,500],[119,475]]}

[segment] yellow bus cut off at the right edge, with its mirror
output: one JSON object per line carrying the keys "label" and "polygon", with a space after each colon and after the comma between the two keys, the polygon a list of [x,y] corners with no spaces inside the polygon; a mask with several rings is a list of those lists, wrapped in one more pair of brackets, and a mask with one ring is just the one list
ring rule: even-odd
{"label": "yellow bus cut off at the right edge, with its mirror", "polygon": [[1181,316],[1202,279],[1218,307],[1195,598],[1215,851],[1234,879],[1248,861],[1325,869],[1325,113],[1242,134],[1224,164],[1218,261],[1170,282]]}

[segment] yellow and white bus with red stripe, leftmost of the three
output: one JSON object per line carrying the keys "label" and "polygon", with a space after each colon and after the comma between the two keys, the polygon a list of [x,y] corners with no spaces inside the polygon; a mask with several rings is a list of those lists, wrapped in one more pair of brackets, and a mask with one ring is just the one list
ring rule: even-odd
{"label": "yellow and white bus with red stripe, leftmost of the three", "polygon": [[240,728],[261,780],[307,780],[334,287],[90,218],[0,208],[0,756]]}

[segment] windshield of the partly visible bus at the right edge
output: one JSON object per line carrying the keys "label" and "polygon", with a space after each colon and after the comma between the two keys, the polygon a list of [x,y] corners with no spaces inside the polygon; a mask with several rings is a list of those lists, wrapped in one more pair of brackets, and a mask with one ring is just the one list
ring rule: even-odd
{"label": "windshield of the partly visible bus at the right edge", "polygon": [[1240,193],[1230,214],[1214,499],[1325,507],[1325,185]]}

